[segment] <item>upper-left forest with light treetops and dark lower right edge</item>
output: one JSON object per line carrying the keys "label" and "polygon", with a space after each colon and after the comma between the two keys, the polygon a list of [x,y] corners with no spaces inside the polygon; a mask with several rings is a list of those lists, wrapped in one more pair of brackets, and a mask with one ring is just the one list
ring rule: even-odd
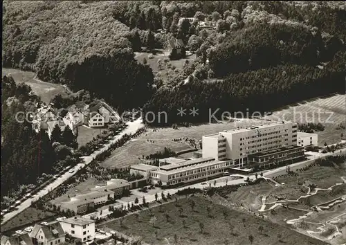
{"label": "upper-left forest with light treetops and dark lower right edge", "polygon": [[[119,109],[142,106],[154,78],[149,67],[135,62],[132,48],[141,46],[140,37],[113,18],[116,6],[5,1],[3,66],[36,71],[40,79],[75,91],[89,89],[92,98],[105,98]],[[134,97],[138,100],[130,100]]]}

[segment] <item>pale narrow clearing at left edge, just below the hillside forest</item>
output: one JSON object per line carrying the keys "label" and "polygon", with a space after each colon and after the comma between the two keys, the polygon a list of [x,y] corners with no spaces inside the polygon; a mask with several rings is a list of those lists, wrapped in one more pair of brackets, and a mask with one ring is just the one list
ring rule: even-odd
{"label": "pale narrow clearing at left edge, just below the hillside forest", "polygon": [[17,69],[2,69],[2,75],[10,74],[16,83],[24,82],[28,84],[34,93],[41,97],[41,100],[49,103],[57,94],[66,96],[66,89],[61,84],[42,82],[36,78],[36,74],[30,71]]}

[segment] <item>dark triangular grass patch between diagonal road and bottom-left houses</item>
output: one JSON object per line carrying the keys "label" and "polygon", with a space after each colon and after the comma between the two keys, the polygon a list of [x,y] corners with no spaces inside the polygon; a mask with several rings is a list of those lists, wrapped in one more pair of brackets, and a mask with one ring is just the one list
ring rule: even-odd
{"label": "dark triangular grass patch between diagonal road and bottom-left houses", "polygon": [[13,228],[18,228],[20,226],[25,226],[26,224],[31,224],[36,221],[42,221],[42,219],[49,219],[53,217],[55,213],[49,211],[39,210],[37,208],[28,208],[21,212],[16,217],[10,219],[6,224],[1,225],[1,233],[6,230],[11,230]]}

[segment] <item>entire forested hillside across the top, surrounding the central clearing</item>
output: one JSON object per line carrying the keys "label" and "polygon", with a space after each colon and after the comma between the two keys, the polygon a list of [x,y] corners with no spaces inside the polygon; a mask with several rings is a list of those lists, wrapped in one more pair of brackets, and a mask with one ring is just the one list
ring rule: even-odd
{"label": "entire forested hillside across the top, surrounding the central clearing", "polygon": [[[270,110],[345,91],[343,2],[4,1],[3,6],[3,66],[84,89],[120,111],[144,106],[170,112],[170,124],[206,122],[207,108]],[[201,28],[199,21],[215,28]],[[182,39],[196,59],[167,72],[163,82],[136,62],[134,52],[163,48],[172,37]],[[189,82],[182,85],[185,78]],[[180,107],[199,108],[200,115],[177,117]]]}

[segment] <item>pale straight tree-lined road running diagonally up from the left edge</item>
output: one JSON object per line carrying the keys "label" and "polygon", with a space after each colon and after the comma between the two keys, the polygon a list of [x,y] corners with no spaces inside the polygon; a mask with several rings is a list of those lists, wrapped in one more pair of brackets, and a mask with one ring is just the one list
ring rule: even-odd
{"label": "pale straight tree-lined road running diagonally up from the left edge", "polygon": [[49,192],[57,188],[59,185],[64,183],[64,181],[71,178],[71,176],[73,176],[77,172],[77,170],[91,163],[93,158],[95,158],[98,154],[105,152],[107,149],[109,149],[110,145],[112,143],[116,143],[116,141],[122,138],[122,136],[124,136],[125,134],[134,134],[136,133],[138,129],[144,127],[142,123],[142,118],[138,118],[137,120],[134,120],[133,122],[128,122],[126,124],[127,124],[127,128],[121,131],[120,134],[118,134],[117,136],[114,136],[114,138],[110,140],[109,143],[105,144],[104,147],[93,152],[90,156],[82,156],[82,159],[84,160],[83,163],[78,163],[77,165],[75,165],[75,167],[71,167],[71,169],[69,170],[69,171],[73,170],[73,172],[71,173],[69,171],[65,172],[64,174],[62,174],[62,176],[57,178],[55,181],[48,184],[44,189],[40,190],[39,192],[37,192],[37,194],[33,195],[33,197],[26,199],[23,203],[17,206],[17,210],[13,210],[12,212],[9,212],[6,215],[3,215],[3,220],[1,221],[1,225],[6,223],[6,221],[8,221],[9,219],[12,219],[12,217],[15,217],[16,215],[18,215],[20,212],[23,212],[26,208],[29,208],[33,201],[37,201],[37,199],[39,199],[40,197],[44,197],[46,194],[48,194]]}

